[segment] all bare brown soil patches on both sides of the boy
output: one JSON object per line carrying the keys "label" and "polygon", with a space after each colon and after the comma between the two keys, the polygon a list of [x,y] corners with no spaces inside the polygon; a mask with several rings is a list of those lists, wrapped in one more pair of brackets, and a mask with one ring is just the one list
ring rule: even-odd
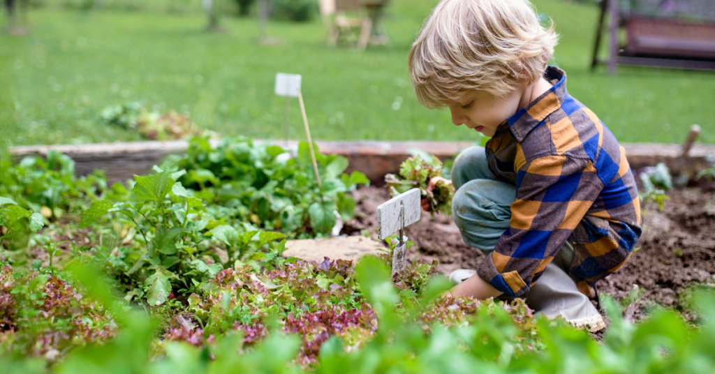
{"label": "all bare brown soil patches on both sides of the boy", "polygon": [[[640,249],[620,270],[596,284],[598,292],[616,300],[637,285],[642,295],[627,308],[629,320],[640,320],[656,304],[678,310],[687,320],[696,318],[684,301],[689,287],[715,286],[715,200],[708,190],[669,192],[671,200],[663,212],[655,203],[644,206]],[[367,187],[353,192],[353,197],[358,200],[358,214],[345,223],[345,232],[370,230],[377,238],[377,207],[389,199],[388,191]],[[452,218],[444,215],[424,213],[405,235],[418,247],[410,251],[410,259],[438,260],[438,270],[445,275],[458,268],[474,269],[484,257],[464,244]]]}

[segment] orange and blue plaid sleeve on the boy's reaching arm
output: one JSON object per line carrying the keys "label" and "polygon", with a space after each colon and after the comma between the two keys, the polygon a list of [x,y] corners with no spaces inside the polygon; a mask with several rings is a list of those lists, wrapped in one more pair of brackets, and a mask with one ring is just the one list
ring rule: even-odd
{"label": "orange and blue plaid sleeve on the boy's reaching arm", "polygon": [[591,160],[562,155],[519,167],[509,228],[478,275],[507,295],[529,290],[603,190]]}

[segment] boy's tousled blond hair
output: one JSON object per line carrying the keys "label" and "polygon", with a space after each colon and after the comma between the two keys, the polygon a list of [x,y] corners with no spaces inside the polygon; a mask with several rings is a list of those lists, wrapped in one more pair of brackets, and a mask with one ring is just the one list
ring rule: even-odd
{"label": "boy's tousled blond hair", "polygon": [[527,0],[443,0],[410,49],[410,78],[430,109],[470,90],[504,97],[543,75],[558,35]]}

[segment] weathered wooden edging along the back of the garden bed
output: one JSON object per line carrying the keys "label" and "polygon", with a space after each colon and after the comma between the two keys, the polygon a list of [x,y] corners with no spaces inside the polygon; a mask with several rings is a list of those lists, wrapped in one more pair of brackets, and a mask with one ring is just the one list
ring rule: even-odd
{"label": "weathered wooden edging along the back of the garden bed", "polygon": [[[277,144],[295,152],[297,142],[278,140],[257,140]],[[461,149],[472,145],[470,142],[317,142],[320,152],[340,154],[350,160],[349,172],[364,172],[373,184],[382,185],[387,173],[395,173],[400,163],[410,156],[410,149],[422,149],[440,159],[448,159]],[[144,174],[159,164],[169,154],[180,154],[187,149],[183,140],[170,142],[127,142],[97,143],[79,145],[38,145],[13,147],[14,157],[44,155],[48,150],[62,152],[74,159],[77,175],[86,175],[94,169],[104,169],[109,182],[130,179],[134,174]],[[684,172],[695,173],[707,167],[707,154],[715,154],[715,145],[695,144],[689,150],[689,157],[681,157],[683,147],[676,144],[623,144],[626,157],[633,170],[664,162],[674,175]]]}

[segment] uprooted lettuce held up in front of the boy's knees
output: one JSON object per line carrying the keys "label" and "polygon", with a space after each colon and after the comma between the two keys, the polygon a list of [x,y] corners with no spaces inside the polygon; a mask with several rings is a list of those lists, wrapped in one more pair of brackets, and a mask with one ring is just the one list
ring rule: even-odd
{"label": "uprooted lettuce held up in front of the boy's knees", "polygon": [[440,180],[435,184],[434,190],[428,190],[430,179],[442,176],[442,162],[437,157],[432,157],[432,162],[427,162],[419,155],[406,159],[400,164],[400,177],[395,174],[385,175],[385,182],[393,197],[403,192],[419,188],[422,198],[430,202],[430,213],[442,212],[452,215],[452,197],[454,190],[451,184]]}

